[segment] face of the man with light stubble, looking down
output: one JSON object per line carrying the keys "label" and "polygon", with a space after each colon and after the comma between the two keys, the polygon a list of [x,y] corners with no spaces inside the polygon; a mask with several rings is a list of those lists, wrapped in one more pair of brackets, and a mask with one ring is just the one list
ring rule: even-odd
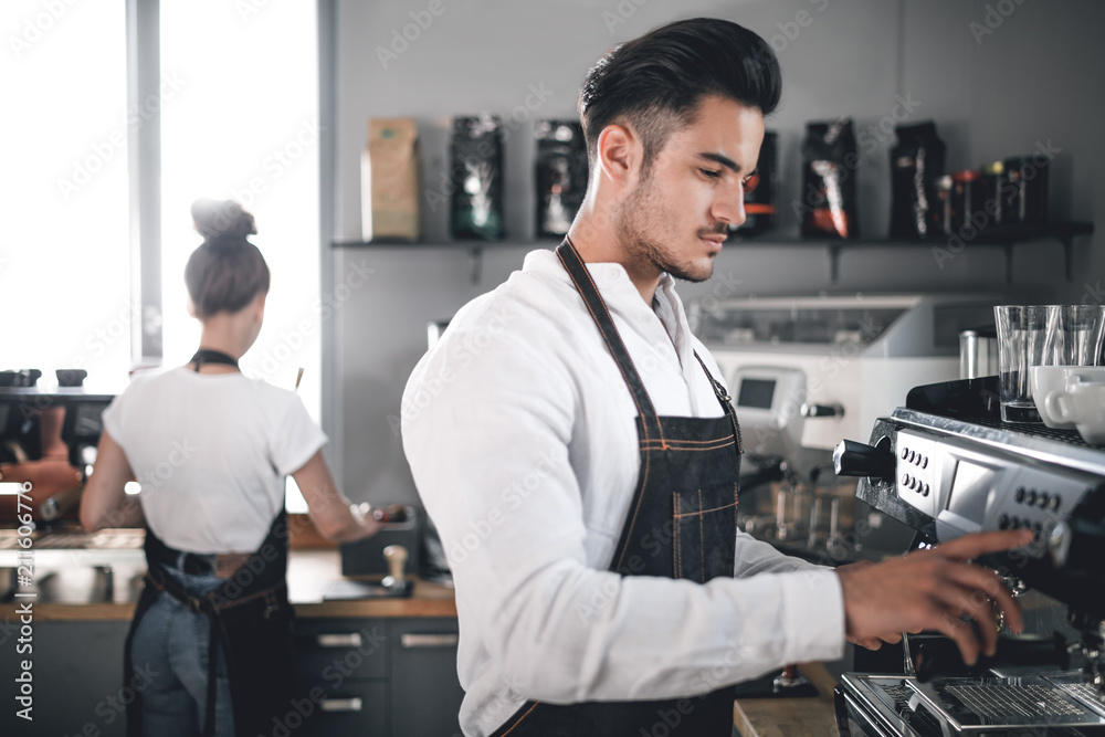
{"label": "face of the man with light stubble, looking down", "polygon": [[714,271],[728,227],[745,221],[745,183],[756,169],[764,116],[708,96],[695,117],[669,136],[623,200],[618,233],[638,269],[702,282]]}

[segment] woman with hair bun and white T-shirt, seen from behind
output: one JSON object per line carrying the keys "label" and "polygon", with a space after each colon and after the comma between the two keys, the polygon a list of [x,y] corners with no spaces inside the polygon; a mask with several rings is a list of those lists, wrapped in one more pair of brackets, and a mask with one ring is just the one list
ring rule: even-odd
{"label": "woman with hair bun and white T-shirt, seen from behind", "polygon": [[[269,266],[236,202],[192,204],[203,243],[185,269],[203,330],[182,367],[135,378],[104,411],[82,502],[88,530],[145,522],[148,572],[127,636],[128,735],[266,733],[293,697],[284,477],[318,530],[338,541],[379,523],[334,483],[326,442],[298,396],[245,378],[238,360],[261,330]],[[141,482],[139,504],[124,485]]]}

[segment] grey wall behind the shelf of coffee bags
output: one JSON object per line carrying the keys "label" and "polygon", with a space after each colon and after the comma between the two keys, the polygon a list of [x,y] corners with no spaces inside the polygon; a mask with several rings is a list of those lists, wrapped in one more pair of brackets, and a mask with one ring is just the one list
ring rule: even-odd
{"label": "grey wall behind the shelf of coffee bags", "polygon": [[[337,2],[337,48],[329,50],[337,69],[334,232],[339,241],[360,238],[359,166],[369,117],[419,119],[423,186],[435,190],[446,164],[449,116],[490,110],[512,126],[505,173],[511,241],[485,252],[475,282],[472,257],[463,245],[333,251],[338,280],[354,263],[375,270],[368,285],[341,303],[336,323],[339,386],[334,427],[343,448],[340,480],[355,498],[417,499],[392,427],[402,389],[424,350],[427,320],[449,317],[522,264],[533,233],[530,118],[572,117],[576,92],[590,64],[614,43],[657,24],[716,15],[772,41],[785,92],[768,128],[780,135],[782,202],[799,194],[798,146],[806,122],[851,115],[857,130],[869,126],[877,130],[901,95],[919,103],[906,122],[937,122],[948,144],[950,168],[1031,152],[1038,140],[1051,139],[1062,148],[1051,172],[1052,212],[1105,225],[1105,187],[1095,190],[1095,172],[1105,165],[1099,138],[1105,45],[1096,38],[1105,24],[1105,3],[1096,0],[441,3],[444,12],[385,69],[378,48],[388,49],[394,33],[401,34],[412,22],[410,13],[425,11],[430,0]],[[998,13],[989,19],[996,28],[976,40],[979,27],[972,31],[970,24],[989,30],[988,4]],[[427,15],[421,18],[424,22]],[[530,85],[547,92],[534,112],[524,107]],[[892,138],[885,136],[864,156],[857,172],[861,230],[869,236],[888,228],[886,152]],[[427,239],[443,242],[444,208],[424,210]],[[794,234],[797,218],[785,207],[779,235]],[[1097,240],[1101,236],[1080,239],[1071,284],[1063,278],[1061,246],[1018,246],[1017,288],[1042,288],[1056,299],[1077,301],[1085,292],[1083,284],[1096,284],[1105,272],[1105,254],[1093,248]],[[727,246],[715,270],[724,281],[715,277],[682,293],[687,298],[1004,287],[1000,250],[968,245],[944,266],[938,267],[927,248],[845,250],[840,283],[833,285],[824,249],[764,242]]]}

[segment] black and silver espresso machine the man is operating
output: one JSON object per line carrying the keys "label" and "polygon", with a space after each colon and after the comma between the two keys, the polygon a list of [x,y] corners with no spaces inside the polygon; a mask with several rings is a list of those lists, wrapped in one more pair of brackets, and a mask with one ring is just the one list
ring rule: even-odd
{"label": "black and silver espresso machine the man is operating", "polygon": [[997,388],[997,377],[916,387],[833,462],[859,477],[859,499],[916,530],[917,547],[1033,530],[1032,544],[979,562],[1027,614],[1031,596],[1065,611],[1064,627],[1001,634],[972,667],[949,640],[911,635],[901,673],[842,676],[844,737],[1105,735],[1105,449],[1073,430],[1003,423]]}

